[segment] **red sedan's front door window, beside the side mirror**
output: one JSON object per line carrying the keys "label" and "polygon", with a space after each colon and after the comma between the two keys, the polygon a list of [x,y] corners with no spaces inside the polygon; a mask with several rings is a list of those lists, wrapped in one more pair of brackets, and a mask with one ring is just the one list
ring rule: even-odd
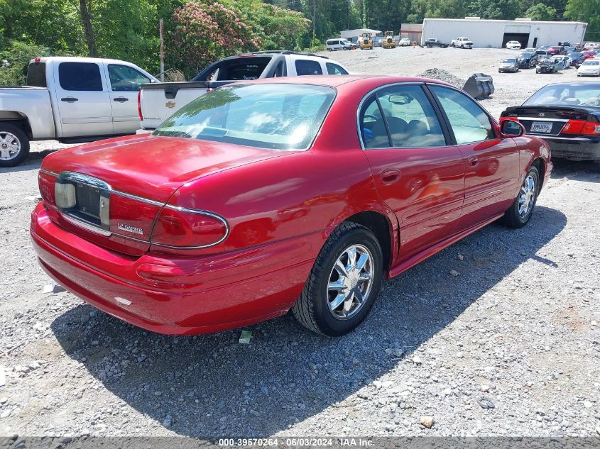
{"label": "red sedan's front door window, beside the side mirror", "polygon": [[458,145],[495,138],[489,116],[468,96],[447,87],[432,86],[448,117]]}

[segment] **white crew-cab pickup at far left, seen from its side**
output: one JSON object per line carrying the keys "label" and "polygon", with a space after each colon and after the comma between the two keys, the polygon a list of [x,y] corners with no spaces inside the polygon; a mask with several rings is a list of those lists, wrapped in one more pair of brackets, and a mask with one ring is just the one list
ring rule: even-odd
{"label": "white crew-cab pickup at far left, seen from its side", "polygon": [[77,143],[135,134],[138,91],[154,82],[130,62],[36,57],[26,86],[0,87],[0,167],[23,162],[30,140]]}

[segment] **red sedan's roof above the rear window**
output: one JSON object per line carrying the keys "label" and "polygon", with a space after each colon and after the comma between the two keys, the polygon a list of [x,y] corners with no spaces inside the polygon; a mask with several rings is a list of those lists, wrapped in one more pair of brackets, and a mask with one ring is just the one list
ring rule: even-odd
{"label": "red sedan's roof above the rear window", "polygon": [[236,82],[236,84],[309,84],[313,86],[338,87],[342,84],[355,82],[373,82],[376,85],[394,84],[400,82],[430,82],[450,86],[439,79],[419,77],[391,77],[385,75],[347,74],[347,75],[304,75],[302,77],[276,77],[253,79],[249,81]]}

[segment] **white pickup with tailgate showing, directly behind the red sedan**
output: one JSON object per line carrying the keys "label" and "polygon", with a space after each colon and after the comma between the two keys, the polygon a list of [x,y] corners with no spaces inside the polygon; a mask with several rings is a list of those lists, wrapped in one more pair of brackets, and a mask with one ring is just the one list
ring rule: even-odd
{"label": "white pickup with tailgate showing, directly behind the red sedan", "polygon": [[348,71],[339,62],[329,60],[326,56],[265,51],[225,57],[213,62],[191,82],[145,84],[138,96],[142,119],[142,129],[138,133],[153,131],[175,111],[210,89],[245,79],[310,74],[348,74]]}

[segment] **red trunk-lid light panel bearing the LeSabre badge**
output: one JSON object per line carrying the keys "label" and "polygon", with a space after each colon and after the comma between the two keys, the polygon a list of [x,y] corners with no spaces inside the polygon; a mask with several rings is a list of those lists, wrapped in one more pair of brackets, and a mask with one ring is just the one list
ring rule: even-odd
{"label": "red trunk-lid light panel bearing the LeSabre badge", "polygon": [[110,231],[148,241],[160,207],[160,204],[140,201],[122,194],[111,194]]}

